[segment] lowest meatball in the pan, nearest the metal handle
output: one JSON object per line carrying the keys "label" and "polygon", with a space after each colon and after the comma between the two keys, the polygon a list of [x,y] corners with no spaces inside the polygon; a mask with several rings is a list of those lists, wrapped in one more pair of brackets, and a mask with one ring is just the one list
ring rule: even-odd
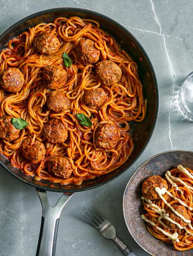
{"label": "lowest meatball in the pan, nearest the metal handle", "polygon": [[48,160],[48,171],[55,176],[67,179],[73,171],[69,158],[66,156],[53,156]]}

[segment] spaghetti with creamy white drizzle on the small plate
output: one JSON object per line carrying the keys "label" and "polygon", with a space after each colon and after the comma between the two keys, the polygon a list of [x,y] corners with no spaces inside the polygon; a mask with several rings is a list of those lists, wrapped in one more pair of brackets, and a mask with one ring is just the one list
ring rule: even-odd
{"label": "spaghetti with creamy white drizzle on the small plate", "polygon": [[[193,170],[178,165],[166,171],[168,189],[155,187],[159,199],[142,197],[148,231],[178,251],[193,248]],[[185,207],[185,208],[184,208]],[[178,209],[178,210],[177,210]]]}

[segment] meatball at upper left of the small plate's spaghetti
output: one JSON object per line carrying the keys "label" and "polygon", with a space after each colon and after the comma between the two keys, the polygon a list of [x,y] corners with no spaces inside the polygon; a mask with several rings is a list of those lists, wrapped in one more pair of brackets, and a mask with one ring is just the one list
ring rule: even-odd
{"label": "meatball at upper left of the small plate's spaghetti", "polygon": [[150,176],[146,180],[144,180],[142,184],[142,195],[144,196],[144,198],[149,200],[159,199],[160,197],[158,193],[155,192],[155,187],[159,187],[160,189],[162,187],[165,187],[166,189],[168,189],[167,182],[162,177],[158,175]]}

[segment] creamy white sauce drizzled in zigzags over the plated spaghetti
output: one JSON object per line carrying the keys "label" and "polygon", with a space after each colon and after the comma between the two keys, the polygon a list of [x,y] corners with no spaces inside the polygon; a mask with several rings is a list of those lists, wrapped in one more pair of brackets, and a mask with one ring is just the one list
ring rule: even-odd
{"label": "creamy white sauce drizzled in zigzags over the plated spaghetti", "polygon": [[[180,171],[182,171],[186,176],[188,176],[189,178],[191,178],[193,180],[193,176],[190,174],[190,172],[188,170],[186,170],[182,165],[178,165],[177,169],[179,169]],[[175,187],[176,190],[179,190],[180,193],[183,193],[183,191],[181,189],[179,189],[179,187],[176,185],[175,182],[179,182],[182,185],[184,185],[185,187],[187,187],[188,189],[190,189],[193,192],[193,187],[190,187],[189,185],[187,185],[186,183],[184,183],[183,180],[180,180],[177,177],[174,177],[171,175],[170,171],[166,171],[166,179],[168,180],[168,182]],[[186,220],[184,218],[184,216],[182,216],[181,214],[179,214],[177,211],[175,211],[175,209],[165,200],[165,198],[163,197],[164,194],[168,194],[169,196],[171,196],[174,200],[176,200],[178,203],[180,203],[181,205],[183,205],[184,207],[188,208],[189,210],[193,210],[193,207],[190,207],[189,205],[187,205],[186,203],[182,202],[182,200],[180,200],[180,198],[177,198],[175,196],[173,196],[173,194],[171,194],[166,188],[162,187],[161,189],[159,187],[155,187],[155,191],[158,193],[159,197],[164,201],[164,203],[173,211],[174,214],[176,214],[178,217],[180,217],[184,222],[188,223],[189,229],[193,230],[193,226],[191,225],[191,220]],[[185,231],[187,232],[187,234],[193,236],[193,232],[190,232],[189,229],[187,229],[186,227],[182,227],[179,223],[175,222],[174,220],[172,220],[171,218],[169,218],[169,214],[166,214],[165,209],[161,209],[158,205],[155,205],[151,202],[151,200],[144,198],[143,196],[141,197],[142,200],[146,200],[147,202],[147,207],[151,208],[153,211],[157,212],[158,214],[160,214],[160,217],[158,218],[158,221],[160,224],[162,224],[163,227],[167,227],[165,225],[165,223],[162,221],[162,219],[164,218],[165,220],[170,221],[171,223],[177,225],[177,227],[179,229],[185,229]],[[153,221],[147,219],[144,214],[141,215],[142,219],[145,220],[146,222],[150,223],[152,226],[154,226],[156,229],[160,230],[160,232],[162,232],[164,235],[168,236],[169,239],[171,239],[173,242],[179,242],[178,239],[178,233],[174,232],[173,234],[170,234],[168,232],[166,232],[164,229],[158,227],[155,223],[153,223]]]}

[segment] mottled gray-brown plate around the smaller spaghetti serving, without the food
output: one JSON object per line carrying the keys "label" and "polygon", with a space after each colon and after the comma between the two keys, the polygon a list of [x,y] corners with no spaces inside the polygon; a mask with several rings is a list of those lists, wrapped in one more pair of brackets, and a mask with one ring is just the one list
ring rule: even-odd
{"label": "mottled gray-brown plate around the smaller spaghetti serving, without the food", "polygon": [[172,245],[167,245],[154,238],[147,230],[146,223],[141,218],[144,213],[141,200],[143,181],[151,175],[160,175],[177,165],[193,169],[193,152],[173,150],[153,156],[143,163],[131,176],[123,195],[124,219],[134,240],[151,255],[156,256],[191,256],[193,249],[179,252]]}

